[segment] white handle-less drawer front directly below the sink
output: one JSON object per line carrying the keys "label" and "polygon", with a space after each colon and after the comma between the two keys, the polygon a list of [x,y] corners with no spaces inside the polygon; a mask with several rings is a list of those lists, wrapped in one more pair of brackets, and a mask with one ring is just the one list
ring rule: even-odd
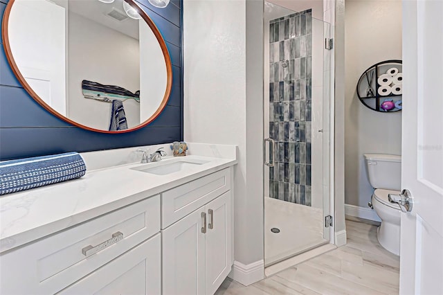
{"label": "white handle-less drawer front directly below the sink", "polygon": [[161,228],[230,190],[230,168],[206,175],[161,194]]}

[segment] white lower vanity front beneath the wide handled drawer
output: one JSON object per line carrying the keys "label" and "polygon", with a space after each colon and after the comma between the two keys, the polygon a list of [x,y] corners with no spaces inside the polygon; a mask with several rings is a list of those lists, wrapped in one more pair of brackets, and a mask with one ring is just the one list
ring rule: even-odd
{"label": "white lower vanity front beneath the wide handled drawer", "polygon": [[100,267],[60,294],[161,294],[160,233]]}

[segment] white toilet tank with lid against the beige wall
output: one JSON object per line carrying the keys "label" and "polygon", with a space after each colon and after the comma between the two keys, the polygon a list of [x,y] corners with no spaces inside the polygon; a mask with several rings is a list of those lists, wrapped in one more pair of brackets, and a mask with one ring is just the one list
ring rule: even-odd
{"label": "white toilet tank with lid against the beige wall", "polygon": [[372,188],[401,190],[401,156],[363,154]]}

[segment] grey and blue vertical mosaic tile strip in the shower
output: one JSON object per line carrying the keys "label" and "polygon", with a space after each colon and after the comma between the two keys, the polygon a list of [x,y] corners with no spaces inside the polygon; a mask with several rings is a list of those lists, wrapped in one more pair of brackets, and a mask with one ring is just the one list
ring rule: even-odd
{"label": "grey and blue vertical mosaic tile strip in the shower", "polygon": [[269,197],[311,206],[311,10],[269,21]]}

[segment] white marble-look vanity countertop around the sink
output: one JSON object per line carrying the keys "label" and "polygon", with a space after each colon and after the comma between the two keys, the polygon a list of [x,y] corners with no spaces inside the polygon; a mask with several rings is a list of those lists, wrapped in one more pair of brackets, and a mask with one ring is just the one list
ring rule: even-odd
{"label": "white marble-look vanity countertop around the sink", "polygon": [[169,175],[153,175],[131,168],[163,165],[180,161],[181,157],[91,170],[80,179],[1,196],[0,253],[237,163],[236,157],[201,154],[204,156],[189,155],[186,159],[207,163]]}

